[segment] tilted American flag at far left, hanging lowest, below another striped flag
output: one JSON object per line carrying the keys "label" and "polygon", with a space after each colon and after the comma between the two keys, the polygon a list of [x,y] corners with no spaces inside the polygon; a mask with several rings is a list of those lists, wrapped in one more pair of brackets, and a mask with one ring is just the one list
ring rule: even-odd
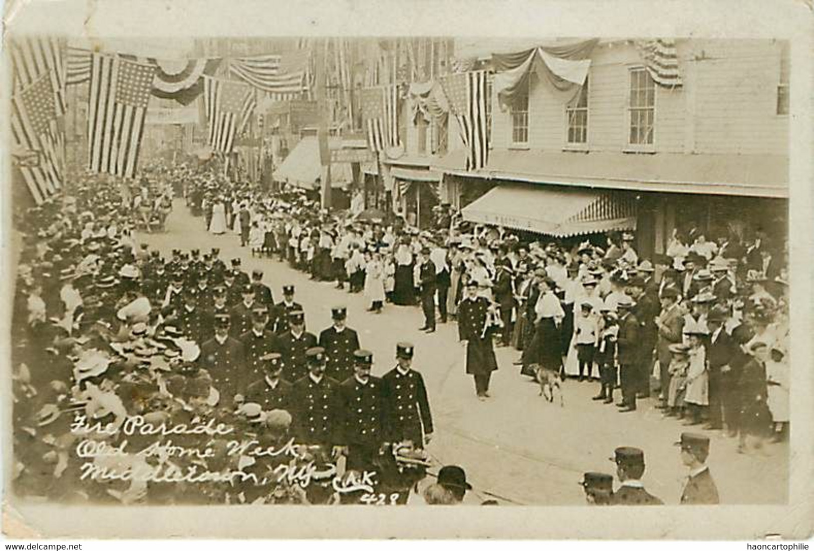
{"label": "tilted American flag at far left, hanging lowest, below another striped flag", "polygon": [[11,134],[15,149],[35,153],[37,164],[20,166],[34,201],[42,203],[62,186],[63,146],[50,75],[43,74],[11,98]]}

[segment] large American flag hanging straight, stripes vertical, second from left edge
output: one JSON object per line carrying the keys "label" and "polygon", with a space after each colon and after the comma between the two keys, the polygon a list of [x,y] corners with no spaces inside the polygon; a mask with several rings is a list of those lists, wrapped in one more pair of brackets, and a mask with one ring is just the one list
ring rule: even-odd
{"label": "large American flag hanging straight, stripes vertical, second from left edge", "polygon": [[133,177],[155,67],[93,54],[88,94],[88,166],[94,173]]}

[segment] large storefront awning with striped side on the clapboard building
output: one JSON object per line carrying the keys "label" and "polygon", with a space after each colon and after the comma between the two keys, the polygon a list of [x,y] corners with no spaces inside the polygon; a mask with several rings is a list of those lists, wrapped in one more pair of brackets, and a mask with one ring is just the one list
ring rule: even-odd
{"label": "large storefront awning with striped side on the clapboard building", "polygon": [[555,237],[636,229],[636,199],[614,191],[505,185],[462,210],[465,221]]}

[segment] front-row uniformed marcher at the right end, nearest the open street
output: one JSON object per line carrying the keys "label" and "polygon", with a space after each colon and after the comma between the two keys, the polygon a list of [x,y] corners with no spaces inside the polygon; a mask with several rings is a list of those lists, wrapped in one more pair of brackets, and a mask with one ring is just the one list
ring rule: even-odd
{"label": "front-row uniformed marcher at the right end, nearest the open street", "polygon": [[432,438],[432,414],[424,378],[413,370],[414,346],[396,344],[398,364],[384,374],[385,442],[396,444],[405,440],[423,448]]}

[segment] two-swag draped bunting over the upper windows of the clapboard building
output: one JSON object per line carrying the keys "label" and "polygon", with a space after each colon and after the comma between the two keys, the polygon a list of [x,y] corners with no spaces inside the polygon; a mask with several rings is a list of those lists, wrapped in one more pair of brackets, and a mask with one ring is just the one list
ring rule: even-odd
{"label": "two-swag draped bunting over the upper windows of the clapboard building", "polygon": [[534,72],[547,82],[562,101],[570,101],[588,76],[589,56],[599,39],[592,38],[562,46],[539,46],[510,54],[492,55],[495,90],[502,109],[510,106],[527,90]]}

